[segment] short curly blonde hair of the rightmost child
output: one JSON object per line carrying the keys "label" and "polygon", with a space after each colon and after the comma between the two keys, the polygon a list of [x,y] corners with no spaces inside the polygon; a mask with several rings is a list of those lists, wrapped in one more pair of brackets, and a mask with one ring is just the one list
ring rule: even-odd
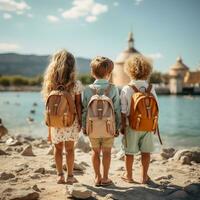
{"label": "short curly blonde hair of the rightmost child", "polygon": [[141,54],[134,54],[124,65],[126,74],[134,80],[147,80],[152,72],[150,60]]}

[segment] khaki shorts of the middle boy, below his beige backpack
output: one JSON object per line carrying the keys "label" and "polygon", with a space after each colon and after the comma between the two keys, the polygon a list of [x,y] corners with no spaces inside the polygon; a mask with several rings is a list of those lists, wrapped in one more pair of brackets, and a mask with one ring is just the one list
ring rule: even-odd
{"label": "khaki shorts of the middle boy, below his beige backpack", "polygon": [[90,138],[92,148],[112,148],[114,138]]}

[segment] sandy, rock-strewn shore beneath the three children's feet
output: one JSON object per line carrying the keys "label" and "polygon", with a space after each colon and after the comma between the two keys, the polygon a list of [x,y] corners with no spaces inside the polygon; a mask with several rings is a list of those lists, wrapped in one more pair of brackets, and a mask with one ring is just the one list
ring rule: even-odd
{"label": "sandy, rock-strewn shore beneath the three children's feet", "polygon": [[[9,136],[4,137],[0,143],[1,200],[71,199],[67,194],[67,188],[69,190],[71,186],[56,184],[54,159],[46,141],[8,139]],[[199,149],[166,149],[161,154],[153,154],[149,169],[152,181],[149,185],[122,181],[120,177],[124,172],[124,162],[121,154],[113,149],[110,178],[114,185],[98,188],[94,187],[91,151],[84,153],[82,150],[85,149],[76,149],[76,169],[79,170],[75,170],[75,175],[81,184],[92,191],[90,199],[200,199]],[[32,153],[34,156],[27,156]],[[138,155],[133,170],[135,181],[140,181],[140,165]]]}

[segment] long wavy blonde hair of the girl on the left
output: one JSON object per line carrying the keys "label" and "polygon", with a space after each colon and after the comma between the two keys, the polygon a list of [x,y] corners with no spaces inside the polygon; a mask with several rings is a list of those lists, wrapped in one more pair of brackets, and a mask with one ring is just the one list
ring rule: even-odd
{"label": "long wavy blonde hair of the girl on the left", "polygon": [[75,71],[75,58],[70,52],[63,49],[53,54],[44,74],[43,98],[46,100],[49,93],[59,85],[65,85],[71,90],[75,85]]}

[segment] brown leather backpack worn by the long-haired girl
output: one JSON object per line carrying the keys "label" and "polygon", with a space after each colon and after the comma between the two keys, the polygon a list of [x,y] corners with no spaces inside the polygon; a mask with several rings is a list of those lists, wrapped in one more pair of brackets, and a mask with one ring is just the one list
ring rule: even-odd
{"label": "brown leather backpack worn by the long-haired girl", "polygon": [[70,127],[76,115],[75,102],[71,93],[65,86],[59,85],[50,92],[46,101],[45,122],[49,127],[49,140],[51,140],[51,127]]}

